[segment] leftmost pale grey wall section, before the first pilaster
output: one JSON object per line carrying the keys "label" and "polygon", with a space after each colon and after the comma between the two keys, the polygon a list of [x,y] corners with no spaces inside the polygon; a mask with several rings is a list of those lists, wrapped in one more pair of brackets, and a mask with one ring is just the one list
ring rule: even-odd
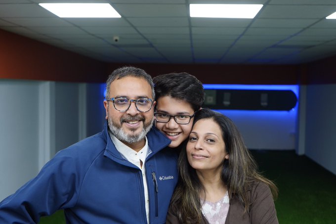
{"label": "leftmost pale grey wall section, before the first pilaster", "polygon": [[39,170],[39,85],[0,81],[0,201]]}

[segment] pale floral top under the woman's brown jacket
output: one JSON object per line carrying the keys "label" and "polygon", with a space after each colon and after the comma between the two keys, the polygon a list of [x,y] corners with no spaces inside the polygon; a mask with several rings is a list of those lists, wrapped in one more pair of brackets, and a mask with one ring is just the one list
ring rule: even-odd
{"label": "pale floral top under the woman's brown jacket", "polygon": [[224,197],[215,203],[205,201],[202,213],[210,224],[225,224],[229,205],[229,195],[226,191]]}

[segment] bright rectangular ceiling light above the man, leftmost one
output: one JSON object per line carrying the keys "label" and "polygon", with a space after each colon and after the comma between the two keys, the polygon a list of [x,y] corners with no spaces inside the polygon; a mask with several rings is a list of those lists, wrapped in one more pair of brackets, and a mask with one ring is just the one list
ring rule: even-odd
{"label": "bright rectangular ceiling light above the man, leftmost one", "polygon": [[43,8],[62,18],[120,18],[109,3],[40,3]]}

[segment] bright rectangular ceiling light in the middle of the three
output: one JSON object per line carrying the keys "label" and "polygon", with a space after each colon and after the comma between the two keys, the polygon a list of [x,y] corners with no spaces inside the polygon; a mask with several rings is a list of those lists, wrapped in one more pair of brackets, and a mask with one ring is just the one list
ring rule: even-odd
{"label": "bright rectangular ceiling light in the middle of the three", "polygon": [[190,4],[190,17],[252,19],[262,4]]}

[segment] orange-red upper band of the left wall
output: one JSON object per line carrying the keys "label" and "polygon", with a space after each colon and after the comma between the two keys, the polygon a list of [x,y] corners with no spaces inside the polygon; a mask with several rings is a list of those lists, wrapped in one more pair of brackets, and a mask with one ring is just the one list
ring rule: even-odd
{"label": "orange-red upper band of the left wall", "polygon": [[0,30],[0,78],[101,82],[107,64]]}

